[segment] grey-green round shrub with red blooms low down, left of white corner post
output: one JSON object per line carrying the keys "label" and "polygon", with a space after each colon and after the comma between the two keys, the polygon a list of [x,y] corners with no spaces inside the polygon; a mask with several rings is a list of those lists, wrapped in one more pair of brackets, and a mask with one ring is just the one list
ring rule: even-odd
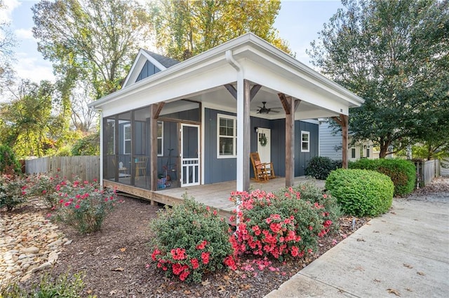
{"label": "grey-green round shrub with red blooms low down, left of white corner post", "polygon": [[156,267],[181,281],[201,282],[204,273],[225,268],[232,255],[227,223],[187,195],[182,204],[158,213],[150,227]]}

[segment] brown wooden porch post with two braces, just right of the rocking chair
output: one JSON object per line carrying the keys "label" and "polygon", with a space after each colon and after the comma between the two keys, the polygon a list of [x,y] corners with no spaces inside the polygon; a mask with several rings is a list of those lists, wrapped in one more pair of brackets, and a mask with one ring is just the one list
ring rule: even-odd
{"label": "brown wooden porch post with two braces, just right of the rocking chair", "polygon": [[300,101],[283,93],[278,96],[286,111],[286,187],[290,187],[295,180],[295,111]]}

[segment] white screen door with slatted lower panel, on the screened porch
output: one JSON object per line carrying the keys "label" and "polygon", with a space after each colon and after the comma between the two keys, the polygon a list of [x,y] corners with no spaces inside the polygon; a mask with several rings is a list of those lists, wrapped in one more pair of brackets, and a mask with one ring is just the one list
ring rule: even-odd
{"label": "white screen door with slatted lower panel, on the screened porch", "polygon": [[181,187],[199,185],[199,125],[181,125]]}

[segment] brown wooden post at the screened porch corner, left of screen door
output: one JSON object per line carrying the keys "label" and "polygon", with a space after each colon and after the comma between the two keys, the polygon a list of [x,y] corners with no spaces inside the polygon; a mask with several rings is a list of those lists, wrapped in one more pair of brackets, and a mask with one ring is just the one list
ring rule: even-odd
{"label": "brown wooden post at the screened porch corner, left of screen door", "polygon": [[150,190],[157,190],[157,118],[163,108],[163,102],[149,106],[149,139],[150,139],[150,157],[149,157],[149,184]]}

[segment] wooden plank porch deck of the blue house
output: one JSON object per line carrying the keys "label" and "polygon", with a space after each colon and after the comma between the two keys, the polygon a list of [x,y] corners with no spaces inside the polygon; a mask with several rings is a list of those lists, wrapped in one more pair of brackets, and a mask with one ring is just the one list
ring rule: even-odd
{"label": "wooden plank porch deck of the blue house", "polygon": [[[307,179],[304,176],[295,177],[294,185],[305,182]],[[313,180],[320,187],[324,187],[324,181]],[[182,201],[182,197],[187,193],[189,197],[194,197],[196,201],[199,201],[206,206],[217,208],[220,215],[225,218],[229,218],[232,215],[232,210],[235,206],[232,201],[229,201],[231,192],[236,190],[236,181],[227,181],[222,183],[213,183],[208,185],[196,185],[190,187],[174,187],[166,188],[163,190],[157,190],[152,192],[151,190],[145,190],[130,185],[123,185],[121,183],[114,183],[109,180],[103,181],[105,186],[115,187],[116,190],[133,194],[142,199],[152,201],[152,203],[161,203],[169,206],[179,204]],[[251,180],[250,187],[252,190],[265,190],[267,192],[274,192],[286,185],[286,179],[278,177],[269,180],[265,183],[258,183],[255,180]]]}

